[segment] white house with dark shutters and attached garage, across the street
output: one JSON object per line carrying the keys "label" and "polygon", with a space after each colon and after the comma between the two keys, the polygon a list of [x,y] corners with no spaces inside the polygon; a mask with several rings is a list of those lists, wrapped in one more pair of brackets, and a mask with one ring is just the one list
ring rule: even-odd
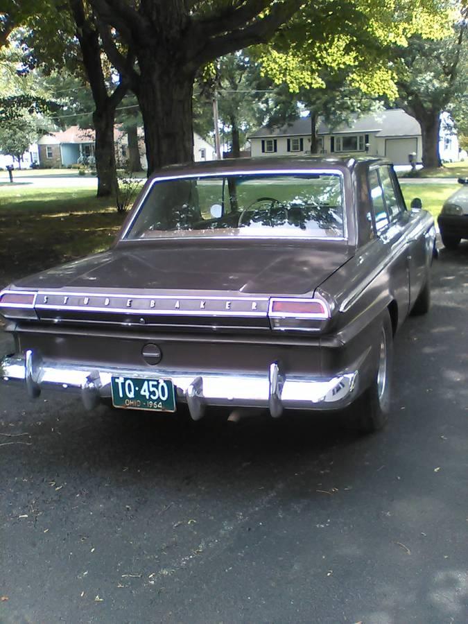
{"label": "white house with dark shutters and attached garage, across the street", "polygon": [[[311,153],[311,120],[301,117],[281,128],[261,128],[250,135],[252,156],[294,155]],[[422,160],[421,127],[404,110],[383,110],[356,117],[349,125],[331,128],[319,119],[318,149],[323,155],[368,154],[385,156],[394,164],[407,165],[408,156],[416,154]],[[458,139],[449,116],[442,116],[440,128],[440,157],[458,160]]]}

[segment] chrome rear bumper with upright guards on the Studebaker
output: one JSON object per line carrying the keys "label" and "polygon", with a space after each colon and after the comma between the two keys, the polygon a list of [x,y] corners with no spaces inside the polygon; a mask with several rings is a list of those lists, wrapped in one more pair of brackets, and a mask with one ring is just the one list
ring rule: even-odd
{"label": "chrome rear bumper with upright guards on the Studebaker", "polygon": [[8,356],[0,362],[3,381],[26,382],[30,397],[38,397],[42,387],[80,392],[85,408],[94,408],[111,397],[111,376],[171,379],[177,400],[187,403],[194,420],[202,417],[205,406],[269,408],[279,417],[284,408],[305,410],[338,409],[351,403],[358,386],[358,371],[333,377],[286,376],[278,362],[265,374],[154,371],[112,367],[89,367],[43,361],[40,354],[27,351],[24,357]]}

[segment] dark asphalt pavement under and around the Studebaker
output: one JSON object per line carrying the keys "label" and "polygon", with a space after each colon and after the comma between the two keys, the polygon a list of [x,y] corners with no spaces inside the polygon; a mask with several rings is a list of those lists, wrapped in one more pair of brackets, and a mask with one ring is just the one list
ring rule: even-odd
{"label": "dark asphalt pavement under and around the Studebaker", "polygon": [[346,414],[193,423],[1,385],[1,623],[466,624],[467,306],[465,242],[367,438]]}

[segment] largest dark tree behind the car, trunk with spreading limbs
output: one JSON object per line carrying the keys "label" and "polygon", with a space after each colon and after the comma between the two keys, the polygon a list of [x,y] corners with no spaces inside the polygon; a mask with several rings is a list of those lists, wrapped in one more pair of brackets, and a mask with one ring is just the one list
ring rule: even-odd
{"label": "largest dark tree behind the car, trunk with spreading limbs", "polygon": [[[229,52],[266,42],[302,0],[90,0],[110,62],[143,116],[148,173],[193,159],[196,73]],[[137,68],[116,44],[114,31]]]}

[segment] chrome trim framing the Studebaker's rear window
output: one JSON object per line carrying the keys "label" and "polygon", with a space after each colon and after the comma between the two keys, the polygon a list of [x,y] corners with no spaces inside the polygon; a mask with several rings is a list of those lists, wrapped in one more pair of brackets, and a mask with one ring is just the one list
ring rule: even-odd
{"label": "chrome trim framing the Studebaker's rear window", "polygon": [[[286,238],[291,238],[291,239],[298,239],[301,241],[304,240],[319,240],[319,241],[347,241],[348,239],[348,230],[347,230],[347,205],[346,205],[346,196],[345,196],[345,175],[343,173],[343,171],[340,171],[340,169],[327,169],[327,168],[320,168],[320,169],[297,169],[297,168],[292,168],[292,169],[254,169],[252,171],[229,171],[229,170],[222,170],[222,171],[216,171],[216,173],[189,173],[187,175],[160,175],[158,177],[155,177],[153,180],[151,180],[150,184],[148,184],[148,188],[146,189],[146,191],[144,192],[144,195],[141,197],[141,199],[139,200],[139,205],[137,206],[137,208],[135,209],[135,213],[132,215],[132,217],[130,218],[130,221],[128,222],[128,225],[125,227],[125,229],[123,230],[123,232],[121,233],[121,236],[119,237],[119,241],[144,241],[145,239],[128,239],[127,236],[130,232],[130,229],[132,228],[133,223],[135,222],[135,220],[137,219],[137,216],[139,216],[141,209],[144,206],[144,202],[146,201],[146,198],[148,197],[150,191],[153,189],[153,187],[155,186],[155,184],[157,184],[157,182],[167,182],[168,180],[187,180],[190,178],[204,178],[204,177],[223,177],[224,175],[308,175],[308,174],[322,174],[324,173],[325,175],[338,175],[338,177],[340,177],[340,184],[341,184],[341,197],[343,198],[343,236],[249,236],[249,237],[245,237],[246,240],[251,240],[251,239],[275,239],[275,240],[284,240]],[[191,238],[196,238],[196,239],[229,239],[229,236],[191,236]],[[239,237],[241,238],[241,237]],[[156,240],[164,240],[164,241],[168,241],[168,240],[180,240],[180,239],[184,239],[183,236],[168,236],[168,237],[164,237],[161,236],[160,239],[156,239]],[[155,239],[146,239],[146,240],[152,240],[155,241]]]}

